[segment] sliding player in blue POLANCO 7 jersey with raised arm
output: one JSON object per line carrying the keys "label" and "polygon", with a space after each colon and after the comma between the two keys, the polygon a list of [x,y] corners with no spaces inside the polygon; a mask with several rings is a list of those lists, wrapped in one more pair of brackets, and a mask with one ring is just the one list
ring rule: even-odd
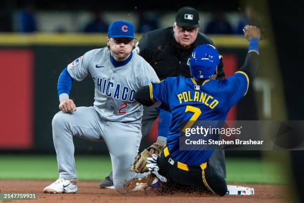
{"label": "sliding player in blue POLANCO 7 jersey with raised arm", "polygon": [[[138,102],[147,106],[160,105],[161,108],[171,111],[172,122],[167,135],[167,145],[159,156],[153,154],[147,158],[146,165],[149,171],[158,171],[164,176],[167,186],[202,189],[220,196],[226,194],[225,179],[208,163],[212,149],[179,149],[180,124],[181,121],[224,121],[229,109],[246,95],[249,82],[253,80],[257,70],[261,34],[259,28],[246,25],[244,35],[249,41],[249,51],[244,66],[233,76],[214,80],[218,73],[219,53],[214,46],[204,44],[192,52],[192,78],[167,78],[135,93]],[[192,124],[193,122],[187,122],[183,128],[191,127]],[[140,181],[143,183],[143,180]]]}

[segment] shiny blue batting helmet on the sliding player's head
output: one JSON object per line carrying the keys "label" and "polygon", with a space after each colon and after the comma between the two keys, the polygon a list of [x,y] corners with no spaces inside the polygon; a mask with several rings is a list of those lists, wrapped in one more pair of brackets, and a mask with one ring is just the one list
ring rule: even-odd
{"label": "shiny blue batting helmet on the sliding player's head", "polygon": [[198,79],[211,78],[220,63],[218,50],[210,44],[196,47],[190,58],[191,76]]}

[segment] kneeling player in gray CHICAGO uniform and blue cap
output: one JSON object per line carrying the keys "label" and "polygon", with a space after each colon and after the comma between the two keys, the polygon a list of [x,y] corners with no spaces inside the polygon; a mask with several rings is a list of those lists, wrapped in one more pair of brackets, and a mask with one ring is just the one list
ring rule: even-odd
{"label": "kneeling player in gray CHICAGO uniform and blue cap", "polygon": [[[73,136],[104,140],[111,156],[114,187],[136,176],[130,171],[138,153],[142,133],[143,106],[134,93],[151,82],[159,81],[153,68],[134,48],[134,26],[115,21],[109,26],[107,45],[86,52],[61,73],[58,80],[60,100],[52,121],[59,179],[44,189],[45,193],[76,193],[77,175]],[[73,80],[91,75],[95,83],[94,105],[77,107],[69,99]]]}

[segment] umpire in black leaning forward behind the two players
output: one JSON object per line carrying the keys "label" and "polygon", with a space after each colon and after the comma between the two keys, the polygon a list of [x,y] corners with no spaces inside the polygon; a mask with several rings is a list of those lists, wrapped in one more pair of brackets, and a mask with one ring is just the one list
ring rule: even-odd
{"label": "umpire in black leaning forward behind the two players", "polygon": [[[135,51],[140,54],[155,70],[160,80],[167,77],[191,77],[189,69],[193,49],[201,44],[214,45],[205,34],[199,32],[199,12],[192,7],[180,8],[175,16],[173,27],[156,29],[146,33],[136,45]],[[222,57],[218,65],[218,77],[225,77]],[[166,142],[169,132],[171,114],[164,110],[144,106],[142,134],[145,137],[159,115],[157,142]],[[217,173],[226,178],[225,152],[217,150],[209,160]],[[111,188],[111,174],[101,182],[100,188]]]}

